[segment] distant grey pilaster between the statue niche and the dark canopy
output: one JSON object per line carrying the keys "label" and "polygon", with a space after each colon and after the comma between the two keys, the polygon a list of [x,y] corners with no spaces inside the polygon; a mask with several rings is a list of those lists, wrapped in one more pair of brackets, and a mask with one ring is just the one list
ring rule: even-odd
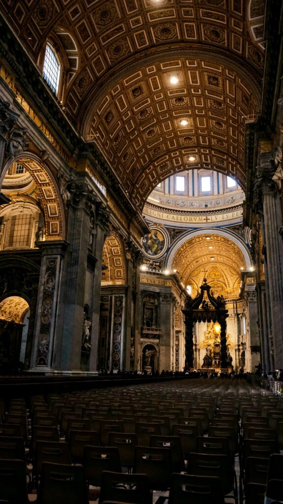
{"label": "distant grey pilaster between the statue niche and the dark canopy", "polygon": [[160,370],[171,370],[172,305],[171,294],[160,294]]}

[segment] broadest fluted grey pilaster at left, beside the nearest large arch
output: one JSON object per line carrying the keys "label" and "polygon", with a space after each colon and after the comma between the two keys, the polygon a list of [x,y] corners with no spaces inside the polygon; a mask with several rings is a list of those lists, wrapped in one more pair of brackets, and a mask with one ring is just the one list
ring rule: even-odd
{"label": "broadest fluted grey pilaster at left, beside the nearest large arch", "polygon": [[[90,240],[90,215],[96,198],[84,181],[68,187],[67,240],[70,244],[64,261],[63,289],[60,296],[60,344],[56,369],[81,370],[85,283]],[[101,275],[101,271],[100,271]],[[101,276],[100,276],[101,280]],[[93,325],[93,322],[92,322]]]}

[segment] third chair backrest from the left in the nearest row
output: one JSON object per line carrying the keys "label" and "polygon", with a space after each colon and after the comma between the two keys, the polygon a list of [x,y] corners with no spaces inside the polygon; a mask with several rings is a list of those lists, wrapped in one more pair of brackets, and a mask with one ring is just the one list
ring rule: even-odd
{"label": "third chair backrest from the left in the nearest row", "polygon": [[104,471],[99,504],[123,502],[152,504],[149,478],[146,474],[125,474]]}

